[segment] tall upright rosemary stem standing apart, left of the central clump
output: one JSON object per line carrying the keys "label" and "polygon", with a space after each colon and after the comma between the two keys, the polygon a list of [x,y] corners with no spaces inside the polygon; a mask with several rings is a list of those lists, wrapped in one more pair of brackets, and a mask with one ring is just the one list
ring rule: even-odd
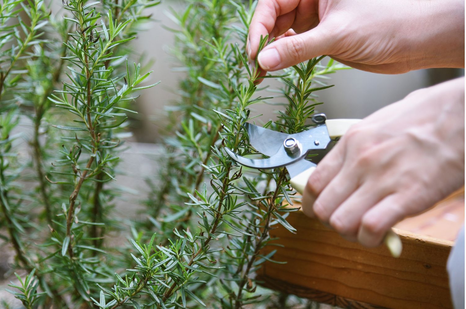
{"label": "tall upright rosemary stem standing apart, left of the central clump", "polygon": [[[125,112],[131,112],[123,106],[133,99],[132,92],[153,86],[140,86],[150,72],[141,74],[140,66],[136,64],[130,70],[128,61],[124,74],[114,73],[109,61],[122,58],[114,55],[114,48],[134,38],[119,36],[131,20],[119,22],[111,9],[106,18],[102,18],[93,7],[96,4],[76,0],[65,6],[73,15],[69,20],[78,30],[66,43],[69,56],[65,59],[73,66],[67,73],[69,82],[64,82],[63,90],[50,98],[57,107],[71,112],[76,118],[77,126],[55,125],[75,134],[63,138],[73,141],[74,145],[63,146],[63,158],[58,160],[59,165],[68,165],[70,169],[54,172],[65,176],[64,180],[55,183],[70,186],[72,190],[68,205],[62,204],[63,221],[56,222],[53,240],[61,250],[60,263],[67,266],[60,269],[62,276],[72,278],[73,288],[85,301],[90,301],[89,279],[100,274],[104,266],[100,265],[100,259],[93,251],[102,251],[103,229],[100,227],[104,225],[104,210],[100,195],[103,184],[115,179],[114,168],[118,162],[115,149],[121,144],[118,131],[127,119]],[[122,16],[123,10],[119,13]],[[85,134],[78,135],[81,132]],[[89,182],[95,183],[91,190],[83,186]],[[84,207],[90,207],[87,214],[91,216],[83,216],[80,220],[78,212]],[[78,268],[86,272],[77,271]]]}

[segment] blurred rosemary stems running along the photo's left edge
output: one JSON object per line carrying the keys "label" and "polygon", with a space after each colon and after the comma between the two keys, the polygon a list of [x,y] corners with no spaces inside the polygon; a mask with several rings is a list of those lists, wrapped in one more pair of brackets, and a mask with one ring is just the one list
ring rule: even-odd
{"label": "blurred rosemary stems running along the photo's left edge", "polygon": [[[15,15],[24,12],[29,22]],[[25,253],[21,233],[28,224],[25,209],[22,207],[22,196],[15,183],[23,169],[24,163],[13,150],[19,134],[15,131],[19,123],[20,110],[16,104],[18,97],[26,89],[21,85],[25,78],[27,67],[24,61],[33,59],[36,55],[34,47],[40,45],[41,27],[44,26],[46,13],[43,1],[31,0],[4,1],[0,7],[0,206],[2,210],[1,223],[6,227],[7,236],[13,245],[16,262],[29,270],[29,260]],[[29,51],[32,48],[33,51]]]}

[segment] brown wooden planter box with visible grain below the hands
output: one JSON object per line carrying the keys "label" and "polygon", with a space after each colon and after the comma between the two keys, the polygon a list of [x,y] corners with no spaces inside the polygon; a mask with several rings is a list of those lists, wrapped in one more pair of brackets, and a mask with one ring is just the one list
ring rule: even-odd
{"label": "brown wooden planter box with visible grain below the hands", "polygon": [[[342,308],[430,309],[452,308],[446,261],[464,220],[464,189],[431,210],[399,224],[403,242],[400,258],[384,246],[364,248],[340,237],[301,211],[271,231],[283,248],[267,262],[260,284]],[[265,253],[267,253],[265,252]]]}

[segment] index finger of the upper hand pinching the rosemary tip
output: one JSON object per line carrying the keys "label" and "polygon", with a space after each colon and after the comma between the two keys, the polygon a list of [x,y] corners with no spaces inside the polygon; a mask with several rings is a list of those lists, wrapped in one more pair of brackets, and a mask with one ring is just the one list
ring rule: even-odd
{"label": "index finger of the upper hand pinching the rosemary tip", "polygon": [[260,36],[265,37],[274,29],[280,15],[293,11],[300,0],[259,0],[249,25],[247,54],[255,59],[259,48]]}

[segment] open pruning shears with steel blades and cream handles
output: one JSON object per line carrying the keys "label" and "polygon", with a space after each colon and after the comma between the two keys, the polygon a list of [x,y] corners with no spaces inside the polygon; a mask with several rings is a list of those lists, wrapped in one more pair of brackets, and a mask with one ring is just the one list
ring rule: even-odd
{"label": "open pruning shears with steel blades and cream handles", "polygon": [[[311,119],[315,126],[295,134],[277,132],[246,123],[250,144],[268,158],[245,158],[228,148],[225,150],[239,164],[254,169],[268,170],[285,166],[290,175],[290,184],[302,194],[318,161],[329,152],[351,125],[360,121],[360,119],[327,119],[325,114],[316,114]],[[312,161],[309,161],[307,157],[310,154],[318,156],[311,157]],[[387,233],[384,243],[392,256],[401,255],[402,243],[393,230]]]}

